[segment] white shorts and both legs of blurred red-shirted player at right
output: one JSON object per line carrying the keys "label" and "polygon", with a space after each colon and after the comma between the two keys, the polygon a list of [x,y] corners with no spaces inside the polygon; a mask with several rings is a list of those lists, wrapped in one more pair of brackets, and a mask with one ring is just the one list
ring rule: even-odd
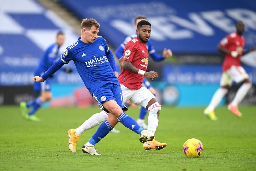
{"label": "white shorts and both legs of blurred red-shirted player at right", "polygon": [[214,109],[219,105],[221,99],[228,93],[228,88],[232,85],[232,81],[236,83],[242,83],[238,89],[235,98],[228,105],[228,110],[238,117],[242,116],[242,113],[238,110],[238,104],[244,99],[252,86],[249,81],[249,76],[241,66],[232,66],[229,70],[224,72],[221,76],[221,87],[214,93],[212,100],[208,107],[204,110],[204,114],[211,120],[217,120]]}

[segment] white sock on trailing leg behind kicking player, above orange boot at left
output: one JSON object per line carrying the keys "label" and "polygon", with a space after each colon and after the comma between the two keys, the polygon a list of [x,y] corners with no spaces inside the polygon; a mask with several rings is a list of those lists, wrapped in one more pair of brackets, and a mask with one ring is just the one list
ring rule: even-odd
{"label": "white sock on trailing leg behind kicking player, above orange boot at left", "polygon": [[85,130],[92,129],[106,119],[108,119],[108,114],[105,111],[96,113],[92,115],[89,119],[87,119],[81,126],[76,128],[75,134],[77,136],[80,136]]}

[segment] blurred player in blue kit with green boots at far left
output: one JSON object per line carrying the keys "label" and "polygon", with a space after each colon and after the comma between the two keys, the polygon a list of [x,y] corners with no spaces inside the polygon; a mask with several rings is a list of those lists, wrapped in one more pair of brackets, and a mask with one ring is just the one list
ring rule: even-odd
{"label": "blurred player in blue kit with green boots at far left", "polygon": [[[56,36],[56,42],[47,48],[44,52],[39,65],[36,67],[34,74],[41,75],[43,74],[52,64],[55,62],[58,56],[58,52],[60,47],[63,45],[65,41],[65,35],[63,32],[59,31]],[[69,68],[65,68],[66,72],[70,72]],[[27,120],[32,121],[40,121],[38,117],[36,117],[35,112],[41,107],[44,102],[50,101],[52,99],[50,82],[47,80],[46,82],[34,82],[34,91],[35,93],[40,93],[40,96],[29,101],[29,102],[21,102],[20,108],[22,116]],[[28,108],[30,108],[28,112]]]}

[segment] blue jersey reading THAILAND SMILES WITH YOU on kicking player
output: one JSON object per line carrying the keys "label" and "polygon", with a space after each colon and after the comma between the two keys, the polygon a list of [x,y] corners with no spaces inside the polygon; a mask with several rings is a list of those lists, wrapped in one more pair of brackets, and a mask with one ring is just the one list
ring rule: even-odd
{"label": "blue jersey reading THAILAND SMILES WITH YOU on kicking player", "polygon": [[62,62],[74,61],[77,72],[91,95],[95,89],[107,83],[119,85],[106,57],[109,47],[105,39],[98,36],[93,43],[89,44],[80,39],[79,37],[75,43],[65,49],[60,57]]}

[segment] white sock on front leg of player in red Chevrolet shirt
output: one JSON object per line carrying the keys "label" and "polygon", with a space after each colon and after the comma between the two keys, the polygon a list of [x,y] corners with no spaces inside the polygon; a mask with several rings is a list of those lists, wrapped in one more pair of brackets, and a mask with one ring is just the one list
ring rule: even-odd
{"label": "white sock on front leg of player in red Chevrolet shirt", "polygon": [[154,136],[156,128],[158,126],[160,110],[161,105],[159,105],[158,102],[153,103],[151,106],[148,107],[148,133],[152,136]]}

